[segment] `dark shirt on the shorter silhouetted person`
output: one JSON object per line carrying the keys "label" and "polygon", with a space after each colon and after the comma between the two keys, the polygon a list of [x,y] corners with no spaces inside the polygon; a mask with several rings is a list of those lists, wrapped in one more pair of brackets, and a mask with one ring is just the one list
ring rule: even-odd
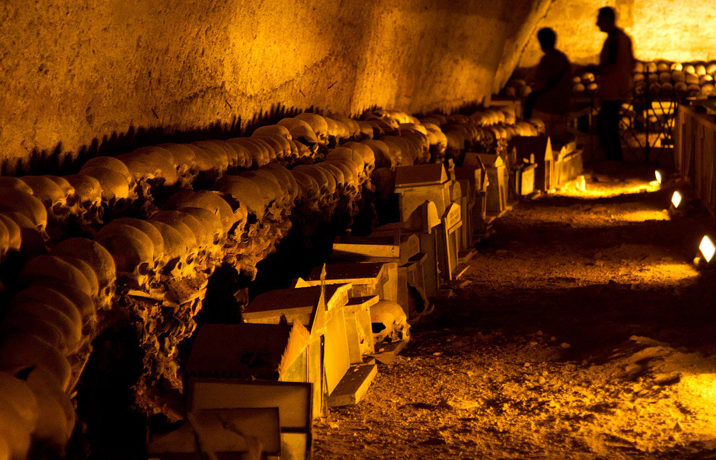
{"label": "dark shirt on the shorter silhouetted person", "polygon": [[569,112],[571,67],[563,52],[550,49],[544,54],[537,66],[533,89],[538,93],[536,110],[559,115]]}

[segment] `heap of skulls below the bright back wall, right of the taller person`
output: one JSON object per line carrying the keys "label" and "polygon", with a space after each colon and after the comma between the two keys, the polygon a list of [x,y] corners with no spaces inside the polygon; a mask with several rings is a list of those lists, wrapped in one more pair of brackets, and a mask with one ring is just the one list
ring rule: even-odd
{"label": "heap of skulls below the bright back wall, right of the taller person", "polygon": [[652,97],[709,97],[716,94],[716,62],[637,62],[634,91]]}

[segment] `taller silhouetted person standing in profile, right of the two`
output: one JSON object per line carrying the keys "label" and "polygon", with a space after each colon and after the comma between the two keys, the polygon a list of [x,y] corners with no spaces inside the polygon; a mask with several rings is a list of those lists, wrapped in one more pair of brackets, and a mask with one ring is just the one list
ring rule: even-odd
{"label": "taller silhouetted person standing in profile, right of the two", "polygon": [[609,6],[599,9],[596,25],[606,33],[597,71],[601,104],[597,130],[606,160],[623,160],[619,139],[619,108],[632,93],[632,39],[616,26],[616,14]]}

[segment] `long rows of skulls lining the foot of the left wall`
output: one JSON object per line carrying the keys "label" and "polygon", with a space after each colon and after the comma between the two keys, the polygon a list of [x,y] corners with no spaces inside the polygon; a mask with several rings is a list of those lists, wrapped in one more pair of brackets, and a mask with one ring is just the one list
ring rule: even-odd
{"label": "long rows of skulls lining the foot of the left wall", "polygon": [[[95,157],[74,175],[0,177],[0,256],[22,250],[34,256],[19,273],[23,290],[9,305],[2,325],[9,334],[0,343],[0,388],[19,388],[6,393],[19,406],[16,413],[1,417],[0,424],[11,416],[23,422],[17,425],[21,429],[11,431],[13,456],[24,455],[29,434],[57,446],[67,441],[74,411],[66,391],[77,377],[68,357],[88,345],[97,310],[115,301],[117,275],[135,288],[151,290],[164,279],[188,278],[201,270],[211,273],[229,238],[246,239],[250,216],[253,221],[278,222],[299,201],[320,210],[337,192],[357,197],[376,166],[395,169],[439,161],[453,135],[442,127],[474,140],[475,127],[511,121],[508,112],[500,114],[435,114],[419,120],[402,112],[377,111],[360,122],[300,114],[258,128],[251,137]],[[324,161],[301,161],[321,156]],[[294,167],[289,170],[280,162]],[[102,207],[137,199],[141,183],[188,189],[200,175],[213,181],[216,190],[180,190],[147,220],[120,217],[94,232],[94,240],[70,238],[44,254],[48,216],[64,222],[69,215],[94,211],[94,217],[101,217],[97,210]],[[11,375],[33,366],[25,380]],[[6,378],[14,380],[3,383]],[[26,397],[26,386],[34,398]]]}

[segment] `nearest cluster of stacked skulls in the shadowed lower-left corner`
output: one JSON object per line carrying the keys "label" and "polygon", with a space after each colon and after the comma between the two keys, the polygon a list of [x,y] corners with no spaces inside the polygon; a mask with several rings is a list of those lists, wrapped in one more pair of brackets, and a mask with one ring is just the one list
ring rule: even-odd
{"label": "nearest cluster of stacked skulls in the shadowed lower-left corner", "polygon": [[101,245],[71,238],[29,260],[0,326],[0,458],[22,459],[31,440],[59,454],[74,428],[69,398],[94,337],[97,310],[115,290]]}

